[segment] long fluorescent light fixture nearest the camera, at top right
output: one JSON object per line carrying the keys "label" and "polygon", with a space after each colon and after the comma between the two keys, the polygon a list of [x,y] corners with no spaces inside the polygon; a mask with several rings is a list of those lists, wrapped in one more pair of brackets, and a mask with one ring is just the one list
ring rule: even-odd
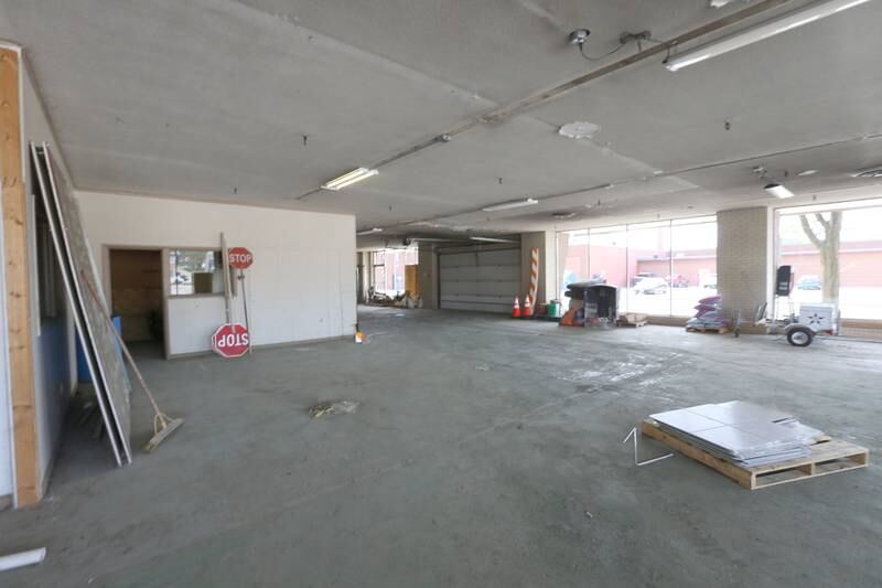
{"label": "long fluorescent light fixture nearest the camera, at top right", "polygon": [[777,19],[772,19],[756,26],[751,26],[717,41],[712,41],[706,45],[701,45],[700,47],[681,53],[676,57],[669,58],[665,67],[671,72],[676,72],[677,70],[682,70],[684,67],[695,65],[704,60],[717,57],[723,53],[729,53],[730,51],[741,49],[751,43],[756,43],[763,39],[768,39],[770,36],[784,33],[797,26],[815,22],[816,20],[830,17],[837,12],[848,10],[869,1],[870,0],[822,0],[820,2],[814,2],[805,8],[787,12]]}

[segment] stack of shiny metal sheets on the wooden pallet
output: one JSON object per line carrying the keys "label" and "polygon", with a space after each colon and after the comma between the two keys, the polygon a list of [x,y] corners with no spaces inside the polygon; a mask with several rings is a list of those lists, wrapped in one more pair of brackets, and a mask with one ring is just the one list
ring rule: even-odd
{"label": "stack of shiny metal sheets on the wooden pallet", "polygon": [[745,468],[808,456],[824,435],[788,413],[741,400],[649,416],[665,432]]}

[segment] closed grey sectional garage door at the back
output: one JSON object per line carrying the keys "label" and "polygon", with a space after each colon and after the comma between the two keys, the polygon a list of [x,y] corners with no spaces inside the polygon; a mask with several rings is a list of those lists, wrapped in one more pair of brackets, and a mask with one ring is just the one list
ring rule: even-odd
{"label": "closed grey sectional garage door at the back", "polygon": [[441,253],[441,308],[512,312],[520,288],[520,248]]}

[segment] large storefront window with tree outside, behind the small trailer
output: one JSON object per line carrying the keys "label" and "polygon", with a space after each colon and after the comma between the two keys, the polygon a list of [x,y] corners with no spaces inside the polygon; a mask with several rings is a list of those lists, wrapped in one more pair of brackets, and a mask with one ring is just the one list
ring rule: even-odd
{"label": "large storefront window with tree outside, behind the small trailer", "polygon": [[882,202],[778,211],[778,265],[794,270],[792,300],[838,304],[846,319],[882,319]]}

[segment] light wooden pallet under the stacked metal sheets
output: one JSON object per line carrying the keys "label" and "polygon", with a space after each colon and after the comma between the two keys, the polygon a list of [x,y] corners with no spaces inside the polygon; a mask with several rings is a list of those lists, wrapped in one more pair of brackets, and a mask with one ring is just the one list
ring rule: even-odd
{"label": "light wooden pallet under the stacked metal sheets", "polygon": [[749,490],[856,470],[865,468],[870,463],[870,452],[867,448],[825,437],[810,447],[811,455],[808,457],[742,468],[665,432],[652,419],[641,424],[641,431],[647,437],[670,446],[684,456],[713,468]]}

